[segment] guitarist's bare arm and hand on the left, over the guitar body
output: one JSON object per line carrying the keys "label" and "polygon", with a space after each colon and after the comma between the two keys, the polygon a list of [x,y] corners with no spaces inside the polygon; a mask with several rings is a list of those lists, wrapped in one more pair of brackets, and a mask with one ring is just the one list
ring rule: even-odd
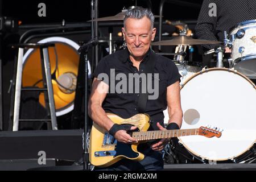
{"label": "guitarist's bare arm and hand on the left, over the guitar body", "polygon": [[[104,81],[97,80],[97,78],[94,78],[92,84],[92,93],[90,95],[88,102],[89,117],[93,119],[93,122],[97,123],[106,131],[109,131],[114,125],[114,123],[111,121],[111,119],[108,118],[104,109],[102,108],[102,103],[106,98],[108,90],[108,84],[106,84]],[[133,129],[135,128],[132,127],[131,130]],[[123,143],[129,143],[129,140],[131,140],[132,142],[136,142],[136,140],[131,138],[130,135],[127,134],[125,130],[117,131],[114,137],[119,142]]]}

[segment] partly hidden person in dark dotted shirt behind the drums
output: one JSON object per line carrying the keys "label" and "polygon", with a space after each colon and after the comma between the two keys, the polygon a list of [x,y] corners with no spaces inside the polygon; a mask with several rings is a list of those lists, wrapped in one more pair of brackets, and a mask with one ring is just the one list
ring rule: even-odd
{"label": "partly hidden person in dark dotted shirt behind the drums", "polygon": [[[238,23],[256,19],[255,0],[204,0],[196,24],[196,37],[205,40],[224,41],[224,31],[229,34]],[[221,45],[203,45],[204,51]],[[224,48],[224,46],[221,46]],[[230,53],[229,48],[225,48]],[[204,57],[204,65],[209,66],[210,57]]]}

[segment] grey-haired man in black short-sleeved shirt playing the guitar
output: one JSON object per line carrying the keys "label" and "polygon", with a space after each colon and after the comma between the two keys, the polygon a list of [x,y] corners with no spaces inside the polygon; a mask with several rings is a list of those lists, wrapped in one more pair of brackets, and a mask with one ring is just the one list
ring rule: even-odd
{"label": "grey-haired man in black short-sleeved shirt playing the guitar", "polygon": [[[114,113],[122,118],[130,118],[138,113],[146,113],[150,115],[151,127],[150,130],[166,130],[164,129],[164,115],[163,110],[168,105],[168,112],[170,114],[168,129],[179,129],[181,127],[183,113],[180,104],[180,86],[179,86],[179,72],[177,67],[171,60],[166,57],[156,55],[150,49],[150,43],[154,40],[156,28],[153,28],[154,16],[150,10],[141,7],[135,7],[127,11],[124,19],[124,27],[122,28],[123,37],[126,41],[127,48],[117,51],[112,55],[104,57],[98,64],[94,72],[94,80],[92,86],[92,94],[89,100],[89,116],[99,126],[109,131],[114,135],[115,139],[123,143],[137,142],[121,125],[114,124],[106,115],[107,113]],[[154,86],[158,87],[154,95],[154,99],[146,101],[146,109],[141,111],[140,98],[141,93],[117,93],[112,84],[115,86],[117,81],[110,78],[110,80],[102,80],[101,73],[105,73],[109,77],[113,74],[122,73],[129,77],[129,74],[143,74],[151,65],[152,72],[157,73],[156,77],[152,77],[149,81],[157,80]],[[130,81],[130,80],[129,80]],[[148,81],[148,80],[147,80]],[[127,84],[127,87],[130,85]],[[143,83],[134,84],[127,90],[143,89]],[[107,93],[109,91],[109,93]],[[152,96],[152,94],[151,94]],[[154,96],[152,96],[154,97]],[[140,100],[140,101],[139,101]],[[131,127],[134,130],[136,127]],[[113,164],[110,170],[160,170],[163,169],[163,159],[161,151],[164,145],[167,144],[168,139],[162,139],[154,144],[146,143],[138,146],[138,151],[142,152],[145,157],[140,162],[134,162],[128,159],[122,159]]]}

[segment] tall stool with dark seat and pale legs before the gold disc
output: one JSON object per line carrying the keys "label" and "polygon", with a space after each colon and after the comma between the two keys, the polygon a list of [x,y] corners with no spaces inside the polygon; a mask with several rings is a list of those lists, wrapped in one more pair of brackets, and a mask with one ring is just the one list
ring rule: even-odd
{"label": "tall stool with dark seat and pale legs before the gold disc", "polygon": [[[19,122],[51,122],[52,130],[57,130],[57,120],[55,114],[55,104],[53,99],[53,89],[51,80],[51,67],[49,64],[48,47],[53,47],[54,44],[18,44],[13,48],[19,48],[18,63],[16,70],[15,82],[15,99],[14,99],[14,118],[13,131],[19,130]],[[42,76],[44,88],[22,88],[22,69],[23,69],[23,52],[24,48],[40,48],[40,59],[42,64]],[[19,119],[20,97],[22,91],[38,91],[44,92],[46,109],[51,119]]]}

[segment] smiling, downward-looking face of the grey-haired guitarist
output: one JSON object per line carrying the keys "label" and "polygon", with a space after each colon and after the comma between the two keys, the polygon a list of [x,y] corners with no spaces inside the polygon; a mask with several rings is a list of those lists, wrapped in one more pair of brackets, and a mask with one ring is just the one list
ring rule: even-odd
{"label": "smiling, downward-looking face of the grey-haired guitarist", "polygon": [[141,59],[150,48],[155,38],[156,28],[151,29],[151,22],[146,16],[141,19],[128,18],[122,28],[127,48],[135,59]]}

